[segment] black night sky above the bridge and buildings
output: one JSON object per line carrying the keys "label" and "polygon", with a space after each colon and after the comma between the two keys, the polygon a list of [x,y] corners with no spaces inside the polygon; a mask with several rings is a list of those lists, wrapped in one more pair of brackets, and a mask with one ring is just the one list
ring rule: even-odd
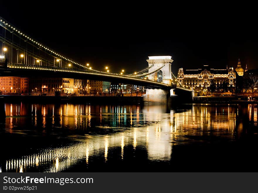
{"label": "black night sky above the bridge and buildings", "polygon": [[[173,71],[237,66],[257,68],[257,39],[242,19],[205,12],[176,11],[171,5],[3,2],[0,16],[65,56],[111,72],[136,71],[148,56],[172,56]],[[41,1],[39,1],[41,2]],[[74,1],[73,1],[74,2]],[[233,20],[235,19],[235,20]]]}

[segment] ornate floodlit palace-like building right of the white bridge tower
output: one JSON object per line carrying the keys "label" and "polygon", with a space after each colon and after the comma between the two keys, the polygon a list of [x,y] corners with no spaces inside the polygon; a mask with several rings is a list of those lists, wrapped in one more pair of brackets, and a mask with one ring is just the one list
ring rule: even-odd
{"label": "ornate floodlit palace-like building right of the white bridge tower", "polygon": [[220,85],[225,82],[228,86],[235,86],[235,71],[233,67],[227,69],[211,69],[208,65],[203,65],[201,69],[184,70],[179,68],[177,79],[180,84],[188,88],[200,89],[210,86],[211,81],[214,85]]}

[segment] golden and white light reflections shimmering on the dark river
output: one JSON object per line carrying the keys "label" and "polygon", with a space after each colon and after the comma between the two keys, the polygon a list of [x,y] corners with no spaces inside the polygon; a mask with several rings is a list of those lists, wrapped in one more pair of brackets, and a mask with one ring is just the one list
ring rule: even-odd
{"label": "golden and white light reflections shimmering on the dark river", "polygon": [[[97,168],[102,164],[133,160],[138,151],[146,162],[170,162],[176,145],[202,142],[203,136],[238,139],[243,132],[239,113],[248,113],[257,126],[257,106],[188,105],[170,109],[166,105],[5,104],[7,134],[26,140],[45,136],[67,140],[64,145],[21,148],[20,154],[3,155],[0,171],[62,172],[76,165]],[[237,122],[238,120],[238,122]],[[6,138],[7,136],[7,138]],[[12,142],[15,147],[23,146]],[[32,144],[33,145],[33,144]],[[1,147],[4,148],[4,147]],[[4,164],[3,164],[4,163]],[[107,166],[108,167],[108,166]]]}

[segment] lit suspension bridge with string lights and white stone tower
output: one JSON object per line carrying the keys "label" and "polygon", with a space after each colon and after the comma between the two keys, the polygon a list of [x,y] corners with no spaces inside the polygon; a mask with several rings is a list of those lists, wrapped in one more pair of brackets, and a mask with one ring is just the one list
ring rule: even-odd
{"label": "lit suspension bridge with string lights and white stone tower", "polygon": [[[109,73],[92,69],[89,64],[84,65],[72,57],[61,54],[1,17],[0,28],[0,41],[3,44],[0,76],[65,77],[120,82],[145,86],[149,89],[150,96],[164,95],[163,91],[167,93],[171,89],[173,94],[178,90],[191,92],[190,89],[184,88],[173,75],[171,56],[149,56],[148,66],[136,72]],[[151,89],[156,91],[152,92]],[[157,93],[157,89],[162,90],[162,93]],[[146,95],[148,95],[147,91]]]}

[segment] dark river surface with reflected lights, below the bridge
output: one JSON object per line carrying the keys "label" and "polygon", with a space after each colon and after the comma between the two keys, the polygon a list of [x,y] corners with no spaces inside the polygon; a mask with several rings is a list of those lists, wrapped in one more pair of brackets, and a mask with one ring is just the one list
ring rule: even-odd
{"label": "dark river surface with reflected lights, below the bridge", "polygon": [[254,172],[257,105],[5,104],[1,172]]}

